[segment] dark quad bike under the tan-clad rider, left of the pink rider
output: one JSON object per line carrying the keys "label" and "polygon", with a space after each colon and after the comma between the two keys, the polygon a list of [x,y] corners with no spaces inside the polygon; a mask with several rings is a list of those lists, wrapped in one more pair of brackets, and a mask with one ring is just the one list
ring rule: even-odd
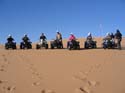
{"label": "dark quad bike under the tan-clad rider, left of the pink rider", "polygon": [[51,49],[54,49],[54,48],[63,49],[62,40],[52,40],[52,41],[50,41],[50,47],[51,47]]}

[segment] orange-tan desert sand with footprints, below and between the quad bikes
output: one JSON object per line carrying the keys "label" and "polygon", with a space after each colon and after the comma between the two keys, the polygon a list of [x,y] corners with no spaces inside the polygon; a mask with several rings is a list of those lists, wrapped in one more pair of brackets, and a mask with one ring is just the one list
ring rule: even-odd
{"label": "orange-tan desert sand with footprints, below and between the quad bikes", "polygon": [[[101,47],[102,40],[95,40]],[[84,40],[79,41],[83,48]],[[0,46],[0,93],[125,93],[125,38],[122,47],[69,51]]]}

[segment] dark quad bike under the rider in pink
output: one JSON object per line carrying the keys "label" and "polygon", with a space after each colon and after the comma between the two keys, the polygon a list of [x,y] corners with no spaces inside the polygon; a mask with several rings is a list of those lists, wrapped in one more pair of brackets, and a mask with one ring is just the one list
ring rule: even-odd
{"label": "dark quad bike under the rider in pink", "polygon": [[76,41],[76,40],[72,40],[72,41],[68,41],[67,43],[67,48],[69,50],[77,50],[77,49],[80,49],[80,45],[79,45],[79,41]]}

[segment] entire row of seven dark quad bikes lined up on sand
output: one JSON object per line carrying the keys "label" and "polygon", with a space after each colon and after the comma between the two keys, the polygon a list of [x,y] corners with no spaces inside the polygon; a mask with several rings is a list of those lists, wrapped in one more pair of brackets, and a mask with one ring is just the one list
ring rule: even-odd
{"label": "entire row of seven dark quad bikes lined up on sand", "polygon": [[[42,42],[42,43],[41,43]],[[69,42],[69,45],[67,46],[67,49],[69,50],[79,50],[80,49],[80,42],[77,40],[71,41]],[[121,44],[120,44],[120,40],[117,41],[104,41],[102,43],[102,47],[104,49],[121,49]],[[36,49],[48,49],[48,43],[47,41],[40,41],[39,43],[36,44]],[[52,40],[50,42],[50,48],[54,49],[63,49],[63,43],[60,40]],[[85,49],[95,49],[97,48],[97,42],[96,41],[85,41],[84,43],[84,48]],[[17,49],[16,47],[16,43],[15,42],[7,42],[5,44],[5,49]],[[32,49],[32,43],[31,42],[21,42],[20,43],[20,49]]]}

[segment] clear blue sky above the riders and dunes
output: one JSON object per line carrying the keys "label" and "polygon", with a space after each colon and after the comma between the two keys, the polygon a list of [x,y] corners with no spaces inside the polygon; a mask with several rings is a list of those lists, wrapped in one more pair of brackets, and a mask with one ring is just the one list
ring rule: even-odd
{"label": "clear blue sky above the riders and dunes", "polygon": [[24,34],[38,41],[44,32],[53,39],[104,36],[118,28],[125,35],[125,0],[0,0],[0,43],[11,34],[17,43]]}

